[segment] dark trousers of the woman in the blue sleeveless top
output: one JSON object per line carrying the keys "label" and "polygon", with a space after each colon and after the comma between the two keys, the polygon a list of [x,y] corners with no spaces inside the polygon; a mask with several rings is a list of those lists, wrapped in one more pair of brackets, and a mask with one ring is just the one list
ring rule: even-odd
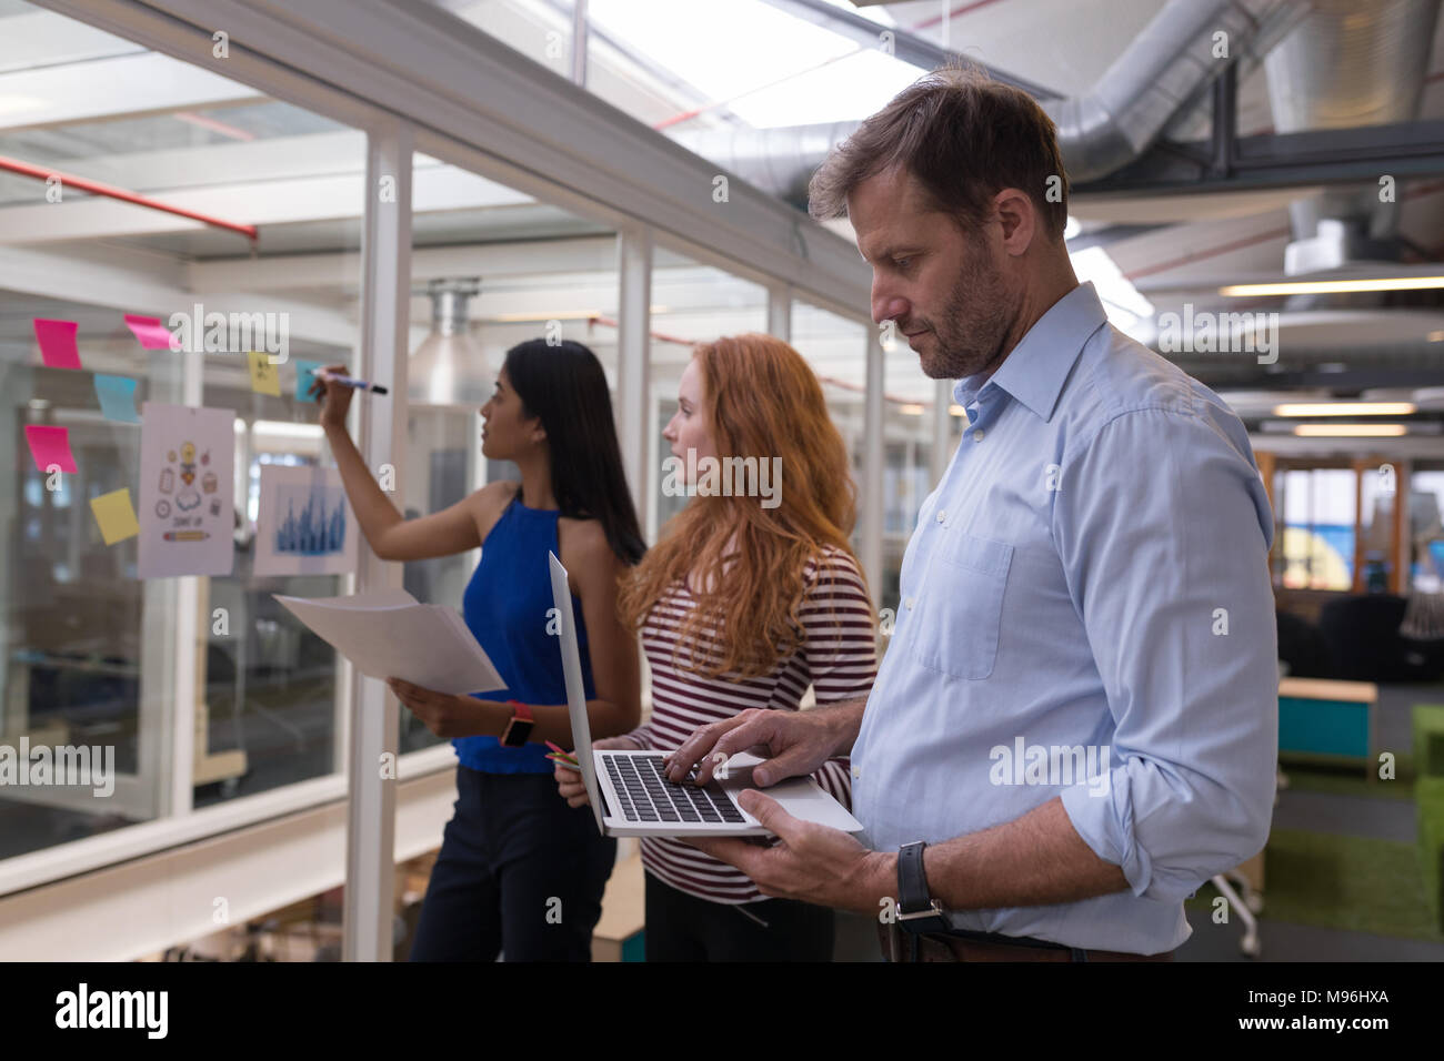
{"label": "dark trousers of the woman in the blue sleeveless top", "polygon": [[412,961],[589,961],[617,842],[550,774],[456,767]]}

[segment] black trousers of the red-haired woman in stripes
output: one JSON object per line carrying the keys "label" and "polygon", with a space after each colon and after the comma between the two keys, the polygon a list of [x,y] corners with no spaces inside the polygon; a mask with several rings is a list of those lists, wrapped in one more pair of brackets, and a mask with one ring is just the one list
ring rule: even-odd
{"label": "black trousers of the red-haired woman in stripes", "polygon": [[699,899],[647,873],[648,961],[832,961],[835,934],[827,907],[762,899],[739,908]]}

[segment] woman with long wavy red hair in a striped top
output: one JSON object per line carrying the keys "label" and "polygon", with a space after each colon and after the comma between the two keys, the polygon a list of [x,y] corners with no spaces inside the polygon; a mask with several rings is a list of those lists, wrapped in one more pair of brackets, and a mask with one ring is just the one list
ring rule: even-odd
{"label": "woman with long wavy red hair in a striped top", "polygon": [[[692,501],[618,592],[651,667],[651,716],[596,748],[677,748],[744,710],[799,710],[809,684],[819,704],[866,696],[877,673],[872,603],[848,544],[848,450],[812,368],[781,339],[722,338],[696,348],[677,401],[663,437]],[[755,473],[736,489],[718,484],[719,466]],[[709,473],[693,481],[699,468]],[[575,771],[554,775],[572,805],[586,803]],[[813,777],[851,804],[845,758]],[[648,961],[832,960],[830,909],[768,899],[683,840],[643,837],[641,856]]]}

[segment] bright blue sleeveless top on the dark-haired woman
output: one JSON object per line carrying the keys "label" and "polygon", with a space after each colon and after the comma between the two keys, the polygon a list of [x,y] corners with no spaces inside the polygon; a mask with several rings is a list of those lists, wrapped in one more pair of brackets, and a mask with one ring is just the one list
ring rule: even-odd
{"label": "bright blue sleeveless top on the dark-haired woman", "polygon": [[[481,544],[481,563],[466,583],[462,615],[477,642],[487,650],[507,687],[495,693],[472,693],[478,700],[520,700],[524,704],[566,703],[562,677],[562,641],[547,634],[552,603],[552,570],[547,550],[562,557],[556,536],[556,510],[527,508],[516,498]],[[582,686],[586,699],[592,686],[592,658],[586,647],[586,622],[580,602],[572,595],[576,618],[576,647],[582,657]],[[570,741],[566,742],[567,745]],[[462,736],[452,741],[464,767],[485,774],[550,774],[547,746],[529,741],[505,748],[494,736]]]}

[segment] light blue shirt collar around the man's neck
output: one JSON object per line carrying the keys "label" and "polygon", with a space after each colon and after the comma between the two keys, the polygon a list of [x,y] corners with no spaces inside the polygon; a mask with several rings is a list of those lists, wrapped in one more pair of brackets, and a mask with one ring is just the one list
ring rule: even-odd
{"label": "light blue shirt collar around the man's neck", "polygon": [[1083,344],[1106,320],[1108,313],[1092,281],[1079,284],[1034,322],[992,377],[982,384],[976,375],[959,380],[953,385],[953,397],[966,407],[979,391],[993,384],[1040,419],[1050,420]]}

